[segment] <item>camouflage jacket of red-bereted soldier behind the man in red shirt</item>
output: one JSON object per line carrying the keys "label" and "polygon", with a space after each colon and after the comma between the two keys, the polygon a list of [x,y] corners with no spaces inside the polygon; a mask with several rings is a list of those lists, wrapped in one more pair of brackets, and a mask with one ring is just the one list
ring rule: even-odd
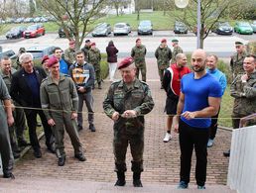
{"label": "camouflage jacket of red-bereted soldier behind the man in red shirt", "polygon": [[158,68],[166,69],[170,65],[170,60],[172,58],[172,50],[168,47],[159,47],[155,51],[155,56],[158,60]]}

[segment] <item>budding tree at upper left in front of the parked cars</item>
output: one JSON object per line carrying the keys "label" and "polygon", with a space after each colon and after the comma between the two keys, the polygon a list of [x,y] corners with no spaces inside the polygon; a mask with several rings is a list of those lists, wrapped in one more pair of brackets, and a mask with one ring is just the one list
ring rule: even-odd
{"label": "budding tree at upper left in front of the parked cars", "polygon": [[57,19],[64,28],[66,38],[71,40],[68,29],[72,29],[76,48],[80,48],[88,34],[88,25],[104,16],[106,0],[38,0],[38,3]]}

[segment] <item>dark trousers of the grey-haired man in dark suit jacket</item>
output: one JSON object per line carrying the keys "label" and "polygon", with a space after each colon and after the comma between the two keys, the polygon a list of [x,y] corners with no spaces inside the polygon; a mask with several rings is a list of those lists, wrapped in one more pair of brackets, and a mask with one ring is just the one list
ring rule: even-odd
{"label": "dark trousers of the grey-haired man in dark suit jacket", "polygon": [[53,132],[51,127],[48,125],[47,118],[42,110],[31,110],[26,111],[26,118],[29,127],[30,143],[34,150],[39,149],[39,140],[37,136],[37,115],[40,116],[41,122],[44,127],[46,145],[49,146],[53,141]]}

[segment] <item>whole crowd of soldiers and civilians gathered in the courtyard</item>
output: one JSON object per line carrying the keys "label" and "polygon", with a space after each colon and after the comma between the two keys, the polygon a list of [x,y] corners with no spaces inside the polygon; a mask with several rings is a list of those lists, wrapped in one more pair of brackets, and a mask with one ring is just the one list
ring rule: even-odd
{"label": "whole crowd of soldiers and civilians gathered in the courtyard", "polygon": [[[226,77],[217,69],[216,55],[207,55],[203,49],[196,49],[192,52],[192,68],[189,68],[187,56],[178,45],[179,41],[172,42],[173,51],[168,48],[166,39],[161,41],[161,45],[155,51],[161,88],[167,94],[165,111],[168,119],[164,142],[172,139],[172,128],[180,134],[181,171],[178,188],[189,187],[194,148],[197,188],[205,189],[207,146],[213,145],[216,135]],[[232,56],[230,62],[234,74],[231,96],[235,98],[233,127],[238,128],[239,119],[256,113],[256,57],[245,54],[242,43],[237,42],[235,45],[237,53]],[[141,40],[137,39],[131,56],[125,57],[118,64],[118,49],[112,41],[109,42],[106,52],[109,77],[113,82],[103,101],[103,109],[114,122],[113,151],[117,173],[115,185],[126,184],[126,152],[130,145],[133,185],[142,187],[144,115],[154,108],[151,90],[146,83],[147,49]],[[92,89],[95,79],[98,88],[101,88],[100,51],[95,48],[95,43],[90,43],[89,40],[85,41],[85,46],[81,50],[75,50],[74,42],[70,41],[69,48],[64,51],[64,58],[62,55],[63,50],[55,48],[54,55],[45,56],[42,59],[43,67],[40,67],[34,66],[31,53],[23,51],[19,55],[21,68],[18,71],[11,68],[11,60],[8,57],[1,59],[0,97],[5,109],[1,106],[0,116],[5,119],[0,119],[4,127],[0,131],[1,139],[4,139],[0,141],[0,153],[4,177],[13,176],[12,149],[15,151],[17,147],[15,133],[18,145],[28,145],[23,136],[25,116],[35,157],[42,156],[36,135],[39,115],[46,135],[47,148],[57,154],[59,166],[65,163],[64,130],[73,146],[74,157],[79,161],[86,160],[78,131],[83,129],[81,112],[85,102],[89,130],[95,132]],[[116,69],[120,70],[122,76],[118,81],[114,79]],[[140,71],[142,81],[139,79]],[[14,129],[13,124],[16,126]]]}

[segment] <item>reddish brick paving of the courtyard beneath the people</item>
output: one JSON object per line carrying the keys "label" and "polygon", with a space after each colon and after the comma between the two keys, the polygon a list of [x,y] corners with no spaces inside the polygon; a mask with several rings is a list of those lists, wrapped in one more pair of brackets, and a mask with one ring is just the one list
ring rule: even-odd
{"label": "reddish brick paving of the courtyard beneath the people", "polygon": [[[177,184],[180,170],[179,136],[174,135],[171,142],[164,144],[166,115],[164,114],[165,92],[160,89],[156,60],[147,58],[148,84],[152,90],[155,101],[154,110],[146,116],[145,128],[145,153],[142,182],[150,184]],[[118,73],[118,72],[117,72]],[[86,113],[84,113],[84,130],[79,133],[80,140],[86,149],[87,160],[79,162],[73,157],[73,149],[69,138],[65,136],[66,163],[64,167],[57,165],[55,154],[49,153],[41,141],[43,157],[35,158],[33,151],[21,158],[15,166],[14,174],[17,179],[22,178],[48,178],[65,179],[75,181],[95,181],[114,183],[116,176],[114,169],[114,157],[112,153],[113,123],[106,117],[102,109],[102,101],[109,87],[109,82],[104,81],[103,89],[95,89],[94,110],[96,132],[91,133],[87,128]],[[84,108],[84,111],[86,107]],[[208,148],[207,184],[222,185],[226,183],[228,158],[222,155],[222,151],[229,148],[231,133],[218,130],[215,145]],[[130,150],[127,153],[127,181],[131,183],[132,172]],[[192,184],[194,181],[194,154],[192,159]]]}

